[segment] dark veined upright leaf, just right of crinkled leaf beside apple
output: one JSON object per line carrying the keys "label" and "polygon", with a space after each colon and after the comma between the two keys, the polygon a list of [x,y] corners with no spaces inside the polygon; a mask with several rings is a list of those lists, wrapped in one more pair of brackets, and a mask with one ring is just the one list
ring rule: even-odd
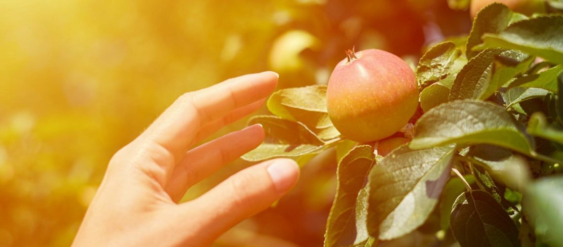
{"label": "dark veined upright leaf, just right of crinkled leaf beside apple", "polygon": [[502,49],[485,50],[469,60],[455,77],[449,101],[481,98],[493,77],[493,58],[502,52]]}

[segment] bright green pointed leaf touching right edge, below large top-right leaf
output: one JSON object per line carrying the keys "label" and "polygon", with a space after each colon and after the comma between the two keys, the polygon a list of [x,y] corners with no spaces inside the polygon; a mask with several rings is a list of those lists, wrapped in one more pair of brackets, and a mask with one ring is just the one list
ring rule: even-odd
{"label": "bright green pointed leaf touching right edge, below large top-right leaf", "polygon": [[557,93],[557,77],[562,74],[563,65],[557,65],[553,68],[540,72],[539,74],[528,74],[517,78],[510,83],[508,88],[513,87],[533,87],[543,88],[551,92]]}

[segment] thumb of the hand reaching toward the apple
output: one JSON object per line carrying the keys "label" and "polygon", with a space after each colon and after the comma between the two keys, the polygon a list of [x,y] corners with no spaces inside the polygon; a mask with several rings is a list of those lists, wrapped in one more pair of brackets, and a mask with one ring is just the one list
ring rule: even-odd
{"label": "thumb of the hand reaching toward the apple", "polygon": [[202,233],[215,239],[268,208],[295,185],[299,173],[297,163],[291,159],[265,161],[234,174],[185,206],[190,215],[205,215],[200,222],[205,229]]}

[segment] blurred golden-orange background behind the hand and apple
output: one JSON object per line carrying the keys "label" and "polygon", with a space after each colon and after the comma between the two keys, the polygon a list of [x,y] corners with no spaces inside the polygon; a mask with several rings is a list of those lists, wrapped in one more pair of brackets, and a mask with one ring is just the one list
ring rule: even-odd
{"label": "blurred golden-orange background behind the hand and apple", "polygon": [[[70,245],[111,156],[184,92],[263,70],[279,88],[325,84],[349,48],[416,62],[470,26],[446,0],[2,0],[0,246]],[[216,246],[321,246],[335,172],[324,152]]]}

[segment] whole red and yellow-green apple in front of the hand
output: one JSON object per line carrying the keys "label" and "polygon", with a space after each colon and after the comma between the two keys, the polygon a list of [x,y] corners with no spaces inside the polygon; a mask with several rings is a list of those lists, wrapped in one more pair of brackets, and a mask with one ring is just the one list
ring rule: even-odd
{"label": "whole red and yellow-green apple in front of the hand", "polygon": [[330,120],[355,142],[391,136],[417,110],[419,92],[413,70],[386,51],[348,52],[349,58],[338,63],[328,82]]}

